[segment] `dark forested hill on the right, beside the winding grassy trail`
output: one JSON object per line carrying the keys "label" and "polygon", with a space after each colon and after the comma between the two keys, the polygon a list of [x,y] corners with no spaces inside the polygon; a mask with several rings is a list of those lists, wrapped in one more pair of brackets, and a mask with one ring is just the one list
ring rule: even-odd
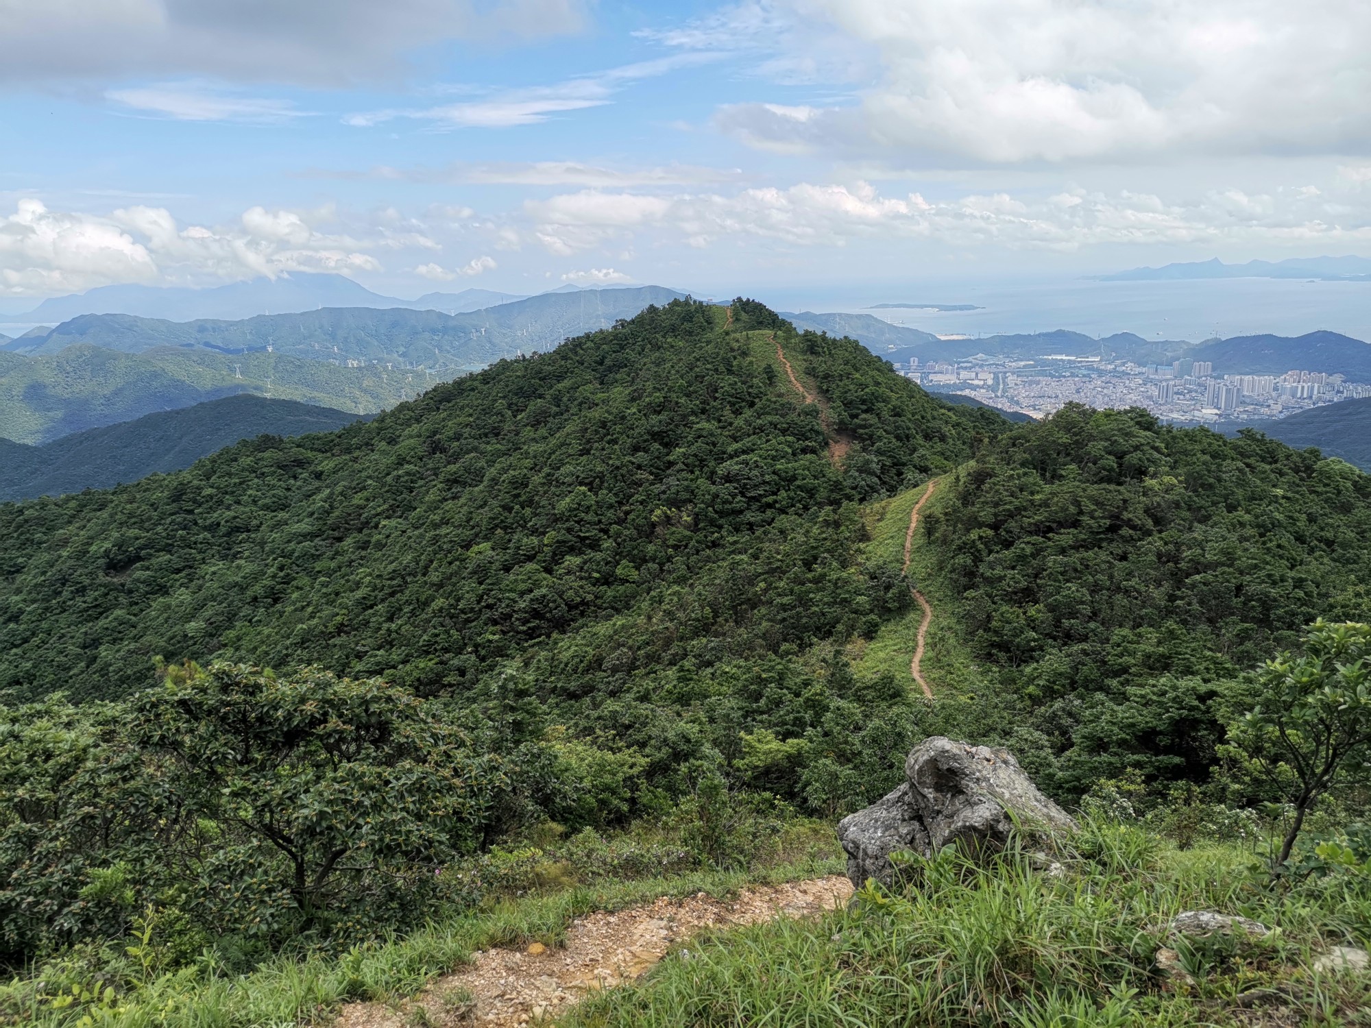
{"label": "dark forested hill on the right, beside the winding grassy trail", "polygon": [[993,669],[982,731],[1061,795],[1128,768],[1204,780],[1215,683],[1316,617],[1371,620],[1371,476],[1256,433],[1072,404],[953,488],[927,529]]}

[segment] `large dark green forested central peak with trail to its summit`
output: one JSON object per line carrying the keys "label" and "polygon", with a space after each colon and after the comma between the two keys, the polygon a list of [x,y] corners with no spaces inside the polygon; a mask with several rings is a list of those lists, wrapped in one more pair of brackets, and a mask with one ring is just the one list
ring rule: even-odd
{"label": "large dark green forested central peak with trail to its summit", "polygon": [[[861,573],[849,504],[1006,422],[853,341],[733,310],[725,330],[718,307],[648,308],[332,436],[0,509],[0,688],[121,695],[152,655],[223,654],[465,691],[561,637],[570,696],[606,669],[757,659],[879,622],[908,596]],[[840,463],[764,330],[827,397]]]}

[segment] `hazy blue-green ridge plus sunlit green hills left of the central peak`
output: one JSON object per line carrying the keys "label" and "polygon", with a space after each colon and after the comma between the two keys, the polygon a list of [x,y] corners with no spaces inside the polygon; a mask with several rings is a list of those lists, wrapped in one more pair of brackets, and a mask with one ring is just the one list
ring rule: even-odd
{"label": "hazy blue-green ridge plus sunlit green hills left of the central peak", "polygon": [[579,289],[458,315],[366,307],[244,321],[81,315],[0,345],[0,437],[41,444],[244,392],[372,414],[677,296],[658,286]]}

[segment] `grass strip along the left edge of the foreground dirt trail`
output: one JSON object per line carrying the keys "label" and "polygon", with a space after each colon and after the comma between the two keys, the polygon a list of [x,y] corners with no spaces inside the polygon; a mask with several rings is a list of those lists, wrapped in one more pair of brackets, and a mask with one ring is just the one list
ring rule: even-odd
{"label": "grass strip along the left edge of the foreground dirt trail", "polygon": [[[101,1028],[258,1028],[328,1023],[344,1002],[414,995],[433,977],[465,964],[476,950],[565,940],[570,922],[595,910],[621,910],[658,896],[707,892],[725,898],[743,885],[780,883],[842,872],[842,861],[810,858],[750,872],[699,872],[670,879],[576,885],[548,895],[502,899],[480,910],[443,917],[403,938],[356,946],[345,954],[277,957],[245,975],[225,973],[213,959],[149,977],[110,1005],[56,1009],[51,998],[103,983],[84,976],[80,958],[45,980],[15,979],[0,987],[0,1024],[74,1028],[92,1017]],[[93,986],[93,988],[92,988]],[[90,1028],[85,1025],[84,1028]]]}

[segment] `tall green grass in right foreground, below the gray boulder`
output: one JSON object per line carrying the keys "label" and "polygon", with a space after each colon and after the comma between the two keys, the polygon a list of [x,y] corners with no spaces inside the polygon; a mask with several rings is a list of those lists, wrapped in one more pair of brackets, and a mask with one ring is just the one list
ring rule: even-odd
{"label": "tall green grass in right foreground, below the gray boulder", "polygon": [[[1367,977],[1319,977],[1315,951],[1364,942],[1368,881],[1281,895],[1254,887],[1237,850],[1156,851],[1137,829],[1087,828],[1061,877],[1027,859],[975,870],[954,855],[913,865],[898,896],[695,939],[642,983],[592,998],[566,1028],[665,1025],[1253,1024],[1233,1002],[1282,988],[1294,1020],[1371,1024]],[[1242,950],[1183,953],[1194,984],[1158,975],[1165,925],[1208,909],[1279,925]],[[1243,1014],[1245,1017],[1246,1014]],[[1359,1020],[1360,1018],[1360,1020]]]}

